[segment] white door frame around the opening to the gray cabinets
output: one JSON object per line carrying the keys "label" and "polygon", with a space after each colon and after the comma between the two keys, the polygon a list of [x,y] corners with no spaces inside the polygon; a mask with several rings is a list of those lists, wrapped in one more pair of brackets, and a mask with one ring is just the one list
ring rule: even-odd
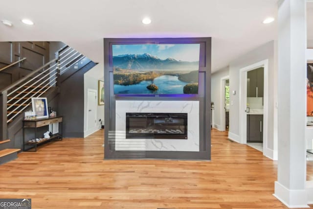
{"label": "white door frame around the opening to the gray cabinets", "polygon": [[264,95],[263,95],[263,153],[268,147],[268,59],[240,69],[239,85],[239,124],[240,143],[246,144],[246,96],[247,71],[264,68]]}

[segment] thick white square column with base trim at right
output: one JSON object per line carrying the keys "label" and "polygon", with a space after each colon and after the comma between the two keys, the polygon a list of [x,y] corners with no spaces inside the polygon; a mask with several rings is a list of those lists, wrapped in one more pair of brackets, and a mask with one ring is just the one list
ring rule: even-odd
{"label": "thick white square column with base trim at right", "polygon": [[308,208],[306,0],[280,0],[278,7],[278,179],[274,196],[290,208]]}

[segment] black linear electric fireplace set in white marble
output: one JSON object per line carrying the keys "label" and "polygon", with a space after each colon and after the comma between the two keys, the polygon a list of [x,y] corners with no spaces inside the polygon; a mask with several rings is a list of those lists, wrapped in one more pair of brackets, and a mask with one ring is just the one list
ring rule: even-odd
{"label": "black linear electric fireplace set in white marble", "polygon": [[187,113],[126,113],[126,139],[187,139]]}

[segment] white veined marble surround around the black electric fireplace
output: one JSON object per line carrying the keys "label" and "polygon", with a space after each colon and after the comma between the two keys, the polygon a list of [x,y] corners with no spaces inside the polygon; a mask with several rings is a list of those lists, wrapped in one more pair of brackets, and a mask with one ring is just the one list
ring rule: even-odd
{"label": "white veined marble surround around the black electric fireplace", "polygon": [[[126,113],[187,113],[188,139],[126,139]],[[199,101],[131,101],[115,103],[116,151],[199,152]]]}

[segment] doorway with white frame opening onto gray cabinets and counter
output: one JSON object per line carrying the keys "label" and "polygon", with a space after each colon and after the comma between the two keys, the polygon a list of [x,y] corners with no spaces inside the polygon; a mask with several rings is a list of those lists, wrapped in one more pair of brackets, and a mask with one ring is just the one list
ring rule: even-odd
{"label": "doorway with white frame opening onto gray cabinets and counter", "polygon": [[[268,60],[240,70],[240,142],[264,153],[268,127]],[[262,142],[262,144],[261,144]]]}

